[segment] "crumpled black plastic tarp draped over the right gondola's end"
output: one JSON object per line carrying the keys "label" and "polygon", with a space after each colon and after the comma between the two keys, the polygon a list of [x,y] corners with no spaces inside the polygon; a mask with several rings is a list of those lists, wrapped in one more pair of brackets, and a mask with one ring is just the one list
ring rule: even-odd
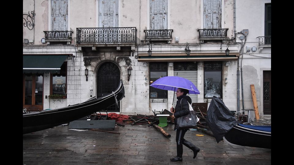
{"label": "crumpled black plastic tarp draped over the right gondola's end", "polygon": [[218,143],[237,124],[237,121],[224,102],[213,96],[207,110],[206,124],[210,127]]}

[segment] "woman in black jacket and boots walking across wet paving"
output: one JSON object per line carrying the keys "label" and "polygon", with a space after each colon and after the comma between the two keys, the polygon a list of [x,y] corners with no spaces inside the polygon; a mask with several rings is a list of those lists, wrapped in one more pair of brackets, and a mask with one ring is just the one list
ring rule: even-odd
{"label": "woman in black jacket and boots walking across wet paving", "polygon": [[[177,104],[175,108],[171,107],[170,111],[173,113],[172,118],[178,118],[180,116],[185,116],[189,114],[190,109],[189,105],[192,103],[192,100],[189,96],[186,96],[189,93],[189,90],[178,88],[176,92],[177,96]],[[189,102],[189,103],[188,103]],[[200,151],[198,147],[193,145],[191,142],[184,139],[184,135],[187,132],[188,129],[179,129],[177,125],[177,120],[175,119],[175,130],[177,130],[176,133],[176,143],[177,143],[177,156],[175,158],[172,158],[171,161],[177,162],[177,161],[183,161],[182,155],[183,155],[183,145],[188,147],[194,152],[193,159],[197,156],[197,153]]]}

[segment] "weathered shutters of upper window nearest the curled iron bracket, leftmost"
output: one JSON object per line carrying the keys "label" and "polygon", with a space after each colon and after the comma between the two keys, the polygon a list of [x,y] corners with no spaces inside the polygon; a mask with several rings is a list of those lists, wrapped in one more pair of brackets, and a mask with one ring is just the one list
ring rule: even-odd
{"label": "weathered shutters of upper window nearest the curled iron bracket, leftmost", "polygon": [[51,29],[52,31],[67,31],[68,0],[51,0]]}

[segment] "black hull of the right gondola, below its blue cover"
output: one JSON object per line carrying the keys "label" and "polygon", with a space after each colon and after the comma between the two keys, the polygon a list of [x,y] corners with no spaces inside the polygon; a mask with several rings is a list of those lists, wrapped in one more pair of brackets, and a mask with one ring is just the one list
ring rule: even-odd
{"label": "black hull of the right gondola, below its blue cover", "polygon": [[271,149],[271,132],[253,130],[238,125],[224,135],[224,140],[235,145]]}

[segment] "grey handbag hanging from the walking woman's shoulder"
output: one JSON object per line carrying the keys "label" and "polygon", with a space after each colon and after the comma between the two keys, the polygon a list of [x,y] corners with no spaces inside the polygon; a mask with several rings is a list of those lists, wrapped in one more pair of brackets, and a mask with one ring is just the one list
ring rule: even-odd
{"label": "grey handbag hanging from the walking woman's shoulder", "polygon": [[[183,110],[182,99],[180,103],[181,103],[181,109]],[[196,116],[195,111],[193,110],[190,104],[189,104],[189,109],[190,109],[190,113],[188,115],[177,118],[177,125],[179,129],[189,129],[189,128],[194,128],[197,126],[197,122],[199,121],[199,118]]]}

